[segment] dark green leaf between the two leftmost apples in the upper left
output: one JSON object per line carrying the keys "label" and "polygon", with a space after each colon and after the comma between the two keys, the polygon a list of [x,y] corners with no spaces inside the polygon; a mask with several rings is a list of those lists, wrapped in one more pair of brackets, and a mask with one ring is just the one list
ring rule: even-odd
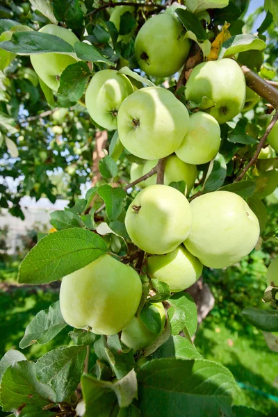
{"label": "dark green leaf between the two leftmost apples in the upper left", "polygon": [[67,97],[70,101],[81,99],[90,74],[86,63],[68,65],[60,76],[58,94]]}

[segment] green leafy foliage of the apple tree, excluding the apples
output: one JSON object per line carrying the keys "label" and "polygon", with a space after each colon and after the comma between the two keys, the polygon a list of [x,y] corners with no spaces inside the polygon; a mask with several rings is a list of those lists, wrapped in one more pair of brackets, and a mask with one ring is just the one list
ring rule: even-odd
{"label": "green leafy foliage of the apple tree, excluding the apples", "polygon": [[[216,60],[229,56],[259,73],[264,85],[275,79],[276,0],[265,0],[267,13],[259,28],[253,25],[262,10],[245,18],[249,0],[184,3],[187,10],[178,8],[177,15],[194,46],[187,71],[204,57]],[[47,352],[37,362],[28,361],[18,350],[10,350],[0,361],[1,407],[10,416],[25,417],[261,416],[233,405],[238,395],[233,375],[197,352],[193,343],[197,308],[190,295],[171,295],[167,284],[149,279],[141,268],[142,253],[129,239],[124,215],[137,193],[136,188],[126,185],[130,182],[130,164],[144,161],[123,149],[117,131],[108,131],[106,156],[99,161],[100,175],[96,172],[93,152],[103,129],[92,123],[84,104],[86,85],[95,72],[118,70],[139,88],[163,85],[191,113],[214,105],[208,97],[199,103],[186,101],[185,80],[177,88],[177,78],[173,76],[147,78],[138,69],[134,55],[136,31],[146,19],[167,7],[164,2],[134,1],[134,13],[122,15],[119,29],[109,20],[115,7],[117,3],[102,0],[1,3],[0,204],[12,215],[24,218],[19,202],[25,195],[47,197],[51,202],[60,197],[70,199],[69,208],[51,213],[55,233],[44,236],[22,262],[20,284],[60,280],[110,252],[140,271],[143,291],[138,314],[147,329],[158,334],[161,319],[152,313],[150,306],[154,302],[164,302],[168,308],[165,328],[152,345],[134,355],[121,342],[120,334],[99,336],[70,327],[68,343]],[[80,41],[86,42],[70,47],[38,33],[49,23],[71,29]],[[118,35],[129,33],[129,42],[119,40]],[[240,53],[249,51],[253,52],[253,60],[249,55],[247,62],[240,62]],[[263,51],[263,60],[258,51]],[[47,87],[33,70],[29,56],[38,52],[66,53],[78,58],[74,68],[60,76],[58,92]],[[210,163],[198,165],[198,179],[189,197],[219,188],[237,193],[259,218],[261,239],[277,245],[277,230],[264,233],[265,204],[258,198],[269,186],[266,173],[277,169],[277,158],[255,160],[243,179],[234,182],[254,156],[273,110],[263,99],[262,94],[250,112],[240,113],[221,125],[220,151]],[[94,186],[79,198],[81,185],[88,181],[93,181]],[[182,181],[171,185],[184,193]],[[248,322],[265,332],[273,349],[277,336],[272,332],[278,331],[276,294],[275,284],[268,286],[264,300],[270,307],[261,310],[254,306],[243,311]],[[31,320],[19,347],[23,350],[33,343],[48,343],[65,327],[56,302]],[[88,352],[94,357],[92,369],[88,369]]]}

